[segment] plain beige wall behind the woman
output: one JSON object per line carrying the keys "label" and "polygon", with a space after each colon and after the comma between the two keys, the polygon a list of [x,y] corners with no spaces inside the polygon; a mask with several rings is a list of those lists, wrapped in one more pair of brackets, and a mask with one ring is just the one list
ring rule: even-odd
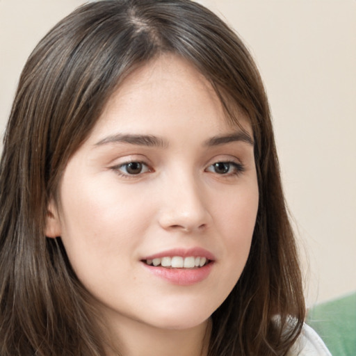
{"label": "plain beige wall behind the woman", "polygon": [[[356,289],[356,1],[200,1],[234,26],[270,97],[309,303]],[[81,0],[0,0],[0,130],[42,35]],[[306,260],[306,258],[304,258]]]}

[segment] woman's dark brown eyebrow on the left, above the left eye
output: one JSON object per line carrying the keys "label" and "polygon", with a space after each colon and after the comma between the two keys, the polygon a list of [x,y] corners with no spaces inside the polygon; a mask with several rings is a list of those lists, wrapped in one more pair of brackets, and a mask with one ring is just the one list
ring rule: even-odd
{"label": "woman's dark brown eyebrow on the left, above the left eye", "polygon": [[130,143],[131,145],[147,146],[147,147],[168,147],[168,142],[163,138],[152,135],[133,135],[131,133],[117,133],[107,136],[95,146],[106,145],[107,143]]}

